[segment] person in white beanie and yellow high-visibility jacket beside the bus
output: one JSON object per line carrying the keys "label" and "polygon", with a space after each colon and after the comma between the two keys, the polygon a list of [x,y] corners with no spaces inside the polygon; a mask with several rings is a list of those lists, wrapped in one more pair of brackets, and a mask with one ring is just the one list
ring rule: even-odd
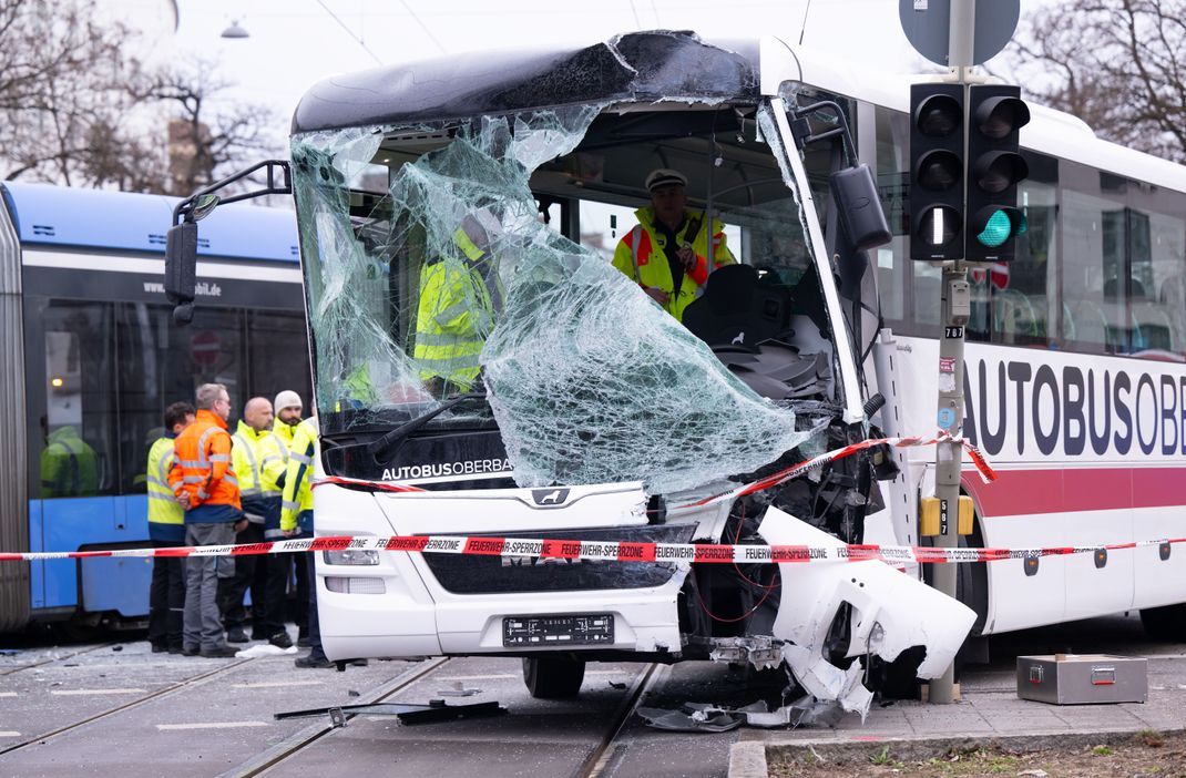
{"label": "person in white beanie and yellow high-visibility jacket beside the bus", "polygon": [[[285,389],[276,395],[275,421],[272,423],[272,434],[260,441],[261,467],[264,470],[263,491],[268,499],[268,512],[264,515],[263,538],[268,541],[283,540],[285,534],[280,529],[280,503],[285,487],[285,478],[288,470],[288,448],[292,446],[296,426],[300,425],[304,404],[300,395],[292,389]],[[275,473],[274,477],[269,477]],[[272,555],[272,567],[268,570],[267,594],[269,602],[275,604],[275,612],[270,619],[275,619],[282,627],[285,621],[285,607],[288,597],[288,579],[295,567],[296,578],[296,644],[308,645],[308,566],[299,554],[274,554]],[[295,563],[295,565],[294,565]],[[275,626],[273,624],[272,626]],[[274,632],[268,640],[274,645],[287,649],[292,644],[288,633],[283,636],[280,631]],[[285,640],[288,639],[288,645]]]}

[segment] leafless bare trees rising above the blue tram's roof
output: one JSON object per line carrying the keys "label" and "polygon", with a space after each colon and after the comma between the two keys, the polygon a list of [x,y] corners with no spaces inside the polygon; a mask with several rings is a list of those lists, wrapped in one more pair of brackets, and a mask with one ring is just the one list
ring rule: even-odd
{"label": "leafless bare trees rising above the blue tram's roof", "polygon": [[189,194],[279,146],[209,63],[151,70],[98,0],[0,0],[0,178]]}

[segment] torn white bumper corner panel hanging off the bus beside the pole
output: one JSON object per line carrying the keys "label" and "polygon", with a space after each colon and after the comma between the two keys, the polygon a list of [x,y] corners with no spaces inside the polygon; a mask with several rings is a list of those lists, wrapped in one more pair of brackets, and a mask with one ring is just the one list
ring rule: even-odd
{"label": "torn white bumper corner panel hanging off the bus beside the pole", "polygon": [[[759,531],[771,544],[842,546],[773,506]],[[783,597],[774,637],[815,653],[821,652],[836,613],[847,602],[852,607],[848,657],[875,653],[892,662],[906,649],[923,646],[926,656],[918,676],[933,678],[955,659],[976,619],[971,608],[884,562],[783,563],[779,568]]]}

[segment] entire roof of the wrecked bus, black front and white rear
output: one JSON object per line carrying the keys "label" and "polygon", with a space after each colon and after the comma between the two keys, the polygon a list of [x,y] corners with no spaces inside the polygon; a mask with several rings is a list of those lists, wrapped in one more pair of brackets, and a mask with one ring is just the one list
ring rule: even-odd
{"label": "entire roof of the wrecked bus, black front and white rear", "polygon": [[[761,65],[779,72],[760,72]],[[408,125],[578,103],[757,100],[759,91],[773,94],[783,79],[906,113],[910,84],[935,77],[857,66],[840,53],[777,38],[710,42],[693,32],[661,30],[586,47],[473,52],[336,76],[305,94],[292,130]],[[1021,129],[1024,147],[1186,191],[1186,167],[1096,138],[1071,114],[1033,103],[1031,111],[1033,121]]]}

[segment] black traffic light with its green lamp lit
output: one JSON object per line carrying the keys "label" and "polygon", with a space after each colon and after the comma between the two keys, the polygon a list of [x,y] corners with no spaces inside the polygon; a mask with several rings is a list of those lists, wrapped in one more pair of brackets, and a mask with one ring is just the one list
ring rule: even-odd
{"label": "black traffic light with its green lamp lit", "polygon": [[1018,209],[1018,183],[1029,166],[1018,153],[1018,135],[1029,108],[1018,87],[973,84],[968,91],[968,236],[973,262],[1008,262],[1026,231]]}

